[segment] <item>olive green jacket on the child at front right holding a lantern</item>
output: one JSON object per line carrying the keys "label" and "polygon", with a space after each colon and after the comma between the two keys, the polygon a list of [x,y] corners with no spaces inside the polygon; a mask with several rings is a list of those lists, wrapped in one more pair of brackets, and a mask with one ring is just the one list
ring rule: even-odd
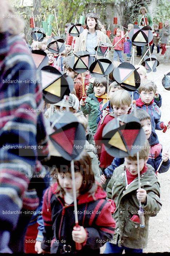
{"label": "olive green jacket on the child at front right holding a lantern", "polygon": [[137,199],[138,177],[129,185],[126,181],[125,165],[115,168],[106,192],[109,199],[113,199],[116,209],[113,218],[116,221],[113,244],[133,249],[143,249],[147,246],[149,231],[149,217],[156,216],[161,209],[160,185],[155,177],[154,169],[146,164],[147,171],[141,174],[141,188],[147,192],[146,203],[142,204],[145,216],[145,227],[141,228],[138,222],[131,221],[133,215],[138,215],[139,202]]}

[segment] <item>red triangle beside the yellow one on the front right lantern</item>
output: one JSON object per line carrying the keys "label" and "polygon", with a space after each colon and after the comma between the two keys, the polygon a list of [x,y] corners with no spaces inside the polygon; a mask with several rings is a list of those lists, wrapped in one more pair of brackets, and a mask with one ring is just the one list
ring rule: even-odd
{"label": "red triangle beside the yellow one on the front right lantern", "polygon": [[120,130],[120,132],[123,136],[123,140],[126,143],[129,150],[132,149],[132,145],[133,145],[135,139],[137,138],[139,131],[140,131],[139,129]]}

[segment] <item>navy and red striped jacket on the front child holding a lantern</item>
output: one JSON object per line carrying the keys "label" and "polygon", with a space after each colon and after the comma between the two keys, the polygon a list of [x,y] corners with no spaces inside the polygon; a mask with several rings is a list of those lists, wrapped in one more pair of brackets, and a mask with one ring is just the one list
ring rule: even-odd
{"label": "navy and red striped jacket on the front child holding a lantern", "polygon": [[[66,205],[64,198],[59,196],[56,183],[46,190],[43,198],[44,231],[41,248],[51,253],[60,252],[63,245],[71,246],[75,252],[75,242],[72,240],[72,230],[75,225],[74,204]],[[106,192],[98,185],[93,185],[90,191],[77,198],[78,221],[87,233],[81,252],[96,252],[103,244],[112,239],[115,221],[111,215],[111,204],[106,200]],[[51,241],[52,242],[51,244]],[[56,241],[56,242],[55,242]],[[64,241],[64,243],[63,243]]]}

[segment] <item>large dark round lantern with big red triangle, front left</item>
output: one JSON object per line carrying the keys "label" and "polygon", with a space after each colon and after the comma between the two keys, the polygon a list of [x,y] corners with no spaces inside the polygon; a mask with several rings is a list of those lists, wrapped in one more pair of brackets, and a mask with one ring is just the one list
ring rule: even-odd
{"label": "large dark round lantern with big red triangle, front left", "polygon": [[49,121],[51,129],[48,129],[48,135],[52,142],[53,150],[50,150],[52,155],[59,153],[68,161],[77,159],[86,144],[83,125],[71,112],[54,114]]}

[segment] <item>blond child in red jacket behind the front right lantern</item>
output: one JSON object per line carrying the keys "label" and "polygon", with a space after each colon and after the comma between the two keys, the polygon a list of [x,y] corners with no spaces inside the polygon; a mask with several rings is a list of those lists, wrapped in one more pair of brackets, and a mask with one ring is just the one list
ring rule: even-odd
{"label": "blond child in red jacket behind the front right lantern", "polygon": [[126,90],[118,90],[111,94],[110,106],[113,112],[104,116],[98,124],[97,131],[94,135],[96,146],[98,146],[98,157],[100,161],[100,168],[105,169],[113,161],[113,157],[107,154],[104,144],[102,143],[102,132],[105,125],[114,117],[127,114],[131,108],[131,97]]}

